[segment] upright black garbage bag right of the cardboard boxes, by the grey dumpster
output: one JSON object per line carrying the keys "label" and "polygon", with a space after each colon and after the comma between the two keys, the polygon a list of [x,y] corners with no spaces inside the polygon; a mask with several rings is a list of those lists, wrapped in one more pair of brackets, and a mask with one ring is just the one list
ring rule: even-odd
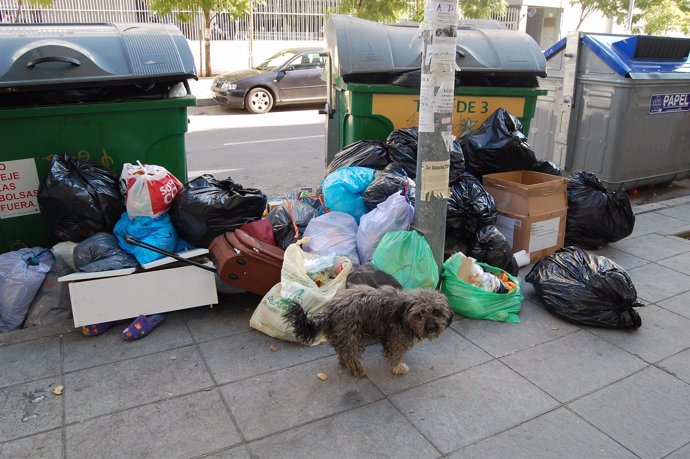
{"label": "upright black garbage bag right of the cardboard boxes, by the grey dumpster", "polygon": [[568,178],[565,245],[597,249],[629,236],[634,228],[635,214],[625,190],[606,191],[590,172]]}

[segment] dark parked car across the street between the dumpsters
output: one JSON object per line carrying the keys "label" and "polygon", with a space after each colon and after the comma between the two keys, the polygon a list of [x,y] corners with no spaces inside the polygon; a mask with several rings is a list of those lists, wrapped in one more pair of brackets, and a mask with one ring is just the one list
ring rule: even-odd
{"label": "dark parked car across the street between the dumpsters", "polygon": [[276,105],[326,102],[321,48],[289,48],[251,69],[218,76],[213,99],[250,113],[267,113]]}

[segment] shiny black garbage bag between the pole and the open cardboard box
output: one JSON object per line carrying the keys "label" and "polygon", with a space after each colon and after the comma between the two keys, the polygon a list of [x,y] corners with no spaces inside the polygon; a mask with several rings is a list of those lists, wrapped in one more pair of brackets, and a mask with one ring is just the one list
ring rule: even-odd
{"label": "shiny black garbage bag between the pole and the open cardboard box", "polygon": [[477,178],[465,173],[450,187],[446,208],[446,233],[469,244],[480,228],[495,225],[496,203]]}

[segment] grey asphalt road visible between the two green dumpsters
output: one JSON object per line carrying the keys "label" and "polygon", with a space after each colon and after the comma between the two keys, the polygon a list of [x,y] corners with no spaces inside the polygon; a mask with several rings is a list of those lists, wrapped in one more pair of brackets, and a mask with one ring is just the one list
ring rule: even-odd
{"label": "grey asphalt road visible between the two green dumpsters", "polygon": [[278,107],[262,115],[218,105],[188,109],[189,178],[229,176],[269,198],[302,187],[316,189],[326,161],[325,115],[318,108]]}

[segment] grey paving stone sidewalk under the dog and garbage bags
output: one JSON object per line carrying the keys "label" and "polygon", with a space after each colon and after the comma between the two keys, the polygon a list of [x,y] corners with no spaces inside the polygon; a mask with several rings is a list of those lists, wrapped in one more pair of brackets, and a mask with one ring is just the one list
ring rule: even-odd
{"label": "grey paving stone sidewalk under the dog and garbage bags", "polygon": [[404,377],[378,345],[355,379],[329,346],[250,329],[250,294],[134,342],[126,324],[0,334],[0,457],[690,457],[690,197],[636,213],[595,252],[633,278],[640,329],[568,324],[524,284],[521,324],[458,317]]}

